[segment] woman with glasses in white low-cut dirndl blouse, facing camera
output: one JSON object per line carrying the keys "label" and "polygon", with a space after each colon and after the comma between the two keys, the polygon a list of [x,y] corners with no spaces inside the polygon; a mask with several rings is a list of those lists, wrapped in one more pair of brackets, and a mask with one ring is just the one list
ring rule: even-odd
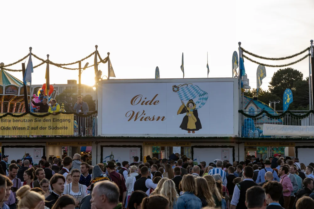
{"label": "woman with glasses in white low-cut dirndl blouse, facing camera", "polygon": [[71,176],[72,182],[64,187],[63,194],[72,196],[75,200],[75,208],[78,209],[82,199],[86,196],[87,187],[78,183],[81,176],[81,173],[78,169],[71,170]]}

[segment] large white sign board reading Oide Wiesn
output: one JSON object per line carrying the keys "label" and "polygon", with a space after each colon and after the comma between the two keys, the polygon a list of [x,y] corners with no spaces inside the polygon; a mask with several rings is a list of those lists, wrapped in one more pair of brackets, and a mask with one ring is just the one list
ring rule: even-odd
{"label": "large white sign board reading Oide Wiesn", "polygon": [[216,79],[215,82],[156,80],[132,83],[115,80],[102,84],[99,127],[103,136],[234,135],[234,127],[237,128],[234,125],[236,79]]}

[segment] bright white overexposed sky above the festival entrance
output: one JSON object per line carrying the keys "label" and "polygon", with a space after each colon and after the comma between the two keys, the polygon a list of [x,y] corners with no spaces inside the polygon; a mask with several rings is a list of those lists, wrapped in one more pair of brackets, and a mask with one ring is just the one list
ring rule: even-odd
{"label": "bright white overexposed sky above the festival entrance", "polygon": [[[314,39],[314,2],[276,1],[1,1],[0,62],[33,53],[56,63],[82,59],[98,45],[110,59],[116,79],[231,77],[231,58],[242,47],[255,54],[282,57],[295,54]],[[284,61],[254,60],[267,64]],[[93,64],[93,57],[89,58]],[[33,65],[40,61],[33,57]],[[82,67],[85,65],[82,63]],[[27,65],[27,62],[26,62]],[[245,60],[250,86],[256,88],[257,64]],[[107,64],[99,69],[107,75]],[[78,64],[68,67],[77,68]],[[292,65],[309,74],[308,59]],[[21,64],[10,66],[21,69]],[[45,83],[46,64],[34,69],[33,84]],[[278,68],[266,67],[263,89]],[[22,80],[22,72],[9,72]],[[82,83],[94,84],[94,68],[82,73]],[[106,78],[106,77],[104,77]],[[50,66],[50,83],[78,80],[78,71]]]}

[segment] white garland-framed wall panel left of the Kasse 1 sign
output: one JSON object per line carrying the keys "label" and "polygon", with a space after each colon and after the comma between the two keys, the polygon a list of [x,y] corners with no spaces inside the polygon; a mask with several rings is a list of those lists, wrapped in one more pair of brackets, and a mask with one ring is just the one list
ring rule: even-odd
{"label": "white garland-framed wall panel left of the Kasse 1 sign", "polygon": [[[5,147],[4,146],[4,153],[5,155],[9,155],[8,162],[11,162],[11,160],[17,160],[21,159],[23,160],[25,158],[25,154],[30,154],[30,157],[33,159],[34,164],[38,164],[41,160],[41,156],[43,155],[43,147],[41,148],[35,148],[35,147],[27,147],[27,148],[20,148],[20,147]],[[30,162],[31,163],[31,162]]]}

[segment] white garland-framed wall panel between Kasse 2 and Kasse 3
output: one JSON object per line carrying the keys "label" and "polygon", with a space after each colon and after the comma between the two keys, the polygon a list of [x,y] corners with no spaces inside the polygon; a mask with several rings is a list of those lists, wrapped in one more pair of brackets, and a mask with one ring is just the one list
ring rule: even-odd
{"label": "white garland-framed wall panel between Kasse 2 and Kasse 3", "polygon": [[102,147],[102,163],[107,163],[108,161],[114,159],[121,163],[123,161],[128,161],[129,164],[133,163],[133,156],[138,156],[141,159],[140,153],[141,148],[139,147]]}

